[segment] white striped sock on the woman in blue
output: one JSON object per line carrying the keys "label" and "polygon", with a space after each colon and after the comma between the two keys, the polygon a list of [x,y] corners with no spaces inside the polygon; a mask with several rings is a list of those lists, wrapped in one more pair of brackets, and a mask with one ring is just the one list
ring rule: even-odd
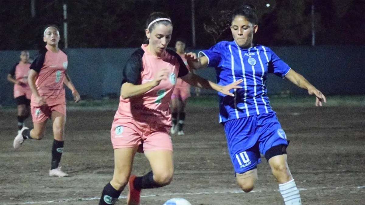
{"label": "white striped sock on the woman in blue", "polygon": [[287,183],[279,184],[281,196],[283,196],[285,205],[301,205],[299,190],[296,187],[294,179]]}

